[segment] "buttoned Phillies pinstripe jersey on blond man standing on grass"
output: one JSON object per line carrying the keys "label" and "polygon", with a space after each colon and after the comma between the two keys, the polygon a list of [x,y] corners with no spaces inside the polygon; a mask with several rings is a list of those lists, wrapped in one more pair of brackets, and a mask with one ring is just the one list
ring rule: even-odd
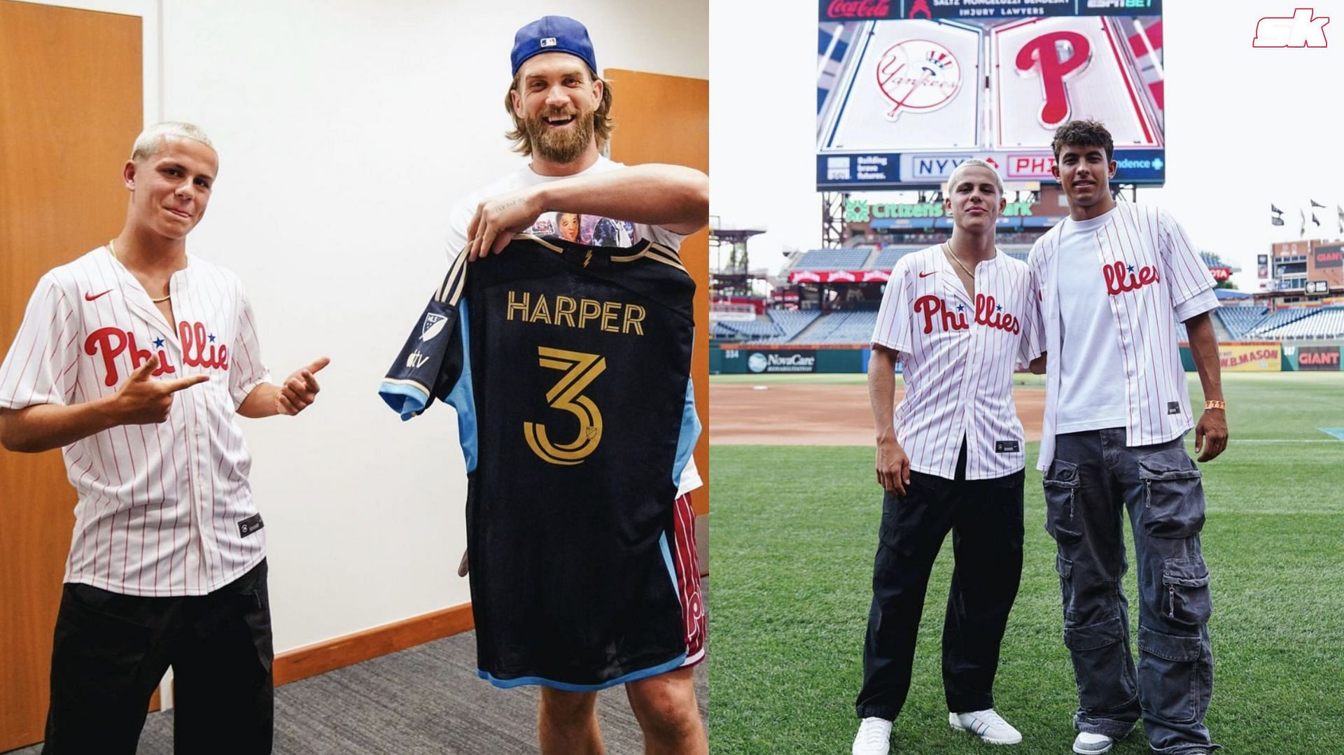
{"label": "buttoned Phillies pinstripe jersey on blond man standing on grass", "polygon": [[910,469],[956,478],[966,439],[966,480],[1005,477],[1025,466],[1012,400],[1016,360],[1028,341],[1027,266],[999,253],[976,266],[976,297],[957,278],[942,245],[907,254],[891,270],[872,343],[900,352],[906,396],[896,441]]}

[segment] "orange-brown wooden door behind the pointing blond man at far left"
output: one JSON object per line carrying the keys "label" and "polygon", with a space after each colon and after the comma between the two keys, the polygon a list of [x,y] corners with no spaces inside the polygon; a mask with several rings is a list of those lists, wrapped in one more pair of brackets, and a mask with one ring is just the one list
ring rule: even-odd
{"label": "orange-brown wooden door behind the pointing blond man at far left", "polygon": [[[141,20],[0,0],[0,353],[43,273],[121,230]],[[0,449],[0,752],[42,740],[74,525],[60,451]]]}

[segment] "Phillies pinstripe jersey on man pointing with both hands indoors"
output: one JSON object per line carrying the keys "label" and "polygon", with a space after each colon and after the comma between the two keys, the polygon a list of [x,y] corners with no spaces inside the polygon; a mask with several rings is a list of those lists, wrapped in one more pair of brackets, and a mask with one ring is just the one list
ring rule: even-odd
{"label": "Phillies pinstripe jersey on man pointing with both hands indoors", "polygon": [[238,278],[203,259],[169,281],[171,325],[106,247],[38,281],[4,365],[0,406],[106,398],[159,356],[155,378],[208,375],[160,425],[122,425],[62,449],[79,494],[65,582],[126,595],[203,595],[257,566],[266,535],[234,420],[269,379]]}

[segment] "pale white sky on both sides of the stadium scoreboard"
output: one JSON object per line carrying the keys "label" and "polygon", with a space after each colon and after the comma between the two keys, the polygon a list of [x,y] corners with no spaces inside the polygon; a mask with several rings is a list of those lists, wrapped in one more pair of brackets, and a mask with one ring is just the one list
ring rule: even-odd
{"label": "pale white sky on both sides of the stadium scoreboard", "polygon": [[[1344,238],[1344,1],[1314,4],[1317,16],[1340,16],[1325,26],[1325,48],[1251,46],[1262,16],[1292,16],[1305,0],[1164,3],[1167,183],[1140,188],[1138,202],[1165,207],[1195,243],[1241,267],[1242,290],[1259,286],[1257,254],[1304,238],[1300,210],[1305,238]],[[816,50],[816,0],[710,4],[710,212],[767,230],[750,242],[753,269],[777,273],[786,249],[821,246]],[[1320,226],[1310,200],[1325,204]],[[1271,203],[1282,227],[1270,224]]]}

